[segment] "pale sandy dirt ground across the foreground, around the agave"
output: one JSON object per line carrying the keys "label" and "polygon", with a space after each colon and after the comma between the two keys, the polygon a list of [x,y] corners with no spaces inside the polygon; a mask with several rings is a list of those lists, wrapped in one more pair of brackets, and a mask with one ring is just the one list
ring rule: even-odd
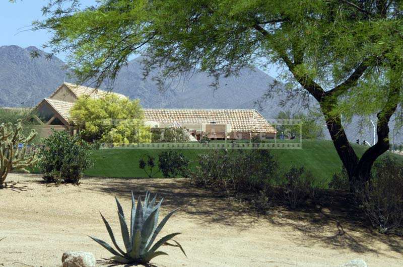
{"label": "pale sandy dirt ground across the foreground, around the agave", "polygon": [[110,243],[101,211],[120,237],[114,197],[129,214],[130,190],[164,197],[163,214],[181,207],[162,234],[182,232],[176,240],[188,257],[163,246],[169,256],[155,258],[158,266],[337,266],[355,258],[369,266],[403,265],[401,238],[338,224],[328,210],[328,215],[277,210],[259,216],[186,180],[85,178],[80,186],[56,187],[38,175],[11,174],[8,181],[27,191],[0,190],[0,238],[6,236],[0,241],[0,266],[60,266],[68,250],[90,251],[97,259],[111,256],[87,235]]}

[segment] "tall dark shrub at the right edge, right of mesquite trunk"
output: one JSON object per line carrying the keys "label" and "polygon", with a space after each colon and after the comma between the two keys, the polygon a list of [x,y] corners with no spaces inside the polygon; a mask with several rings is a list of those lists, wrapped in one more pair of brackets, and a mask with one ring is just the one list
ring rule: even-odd
{"label": "tall dark shrub at the right edge, right of mesquite trunk", "polygon": [[359,197],[372,225],[382,233],[403,234],[403,166],[386,157],[374,164]]}

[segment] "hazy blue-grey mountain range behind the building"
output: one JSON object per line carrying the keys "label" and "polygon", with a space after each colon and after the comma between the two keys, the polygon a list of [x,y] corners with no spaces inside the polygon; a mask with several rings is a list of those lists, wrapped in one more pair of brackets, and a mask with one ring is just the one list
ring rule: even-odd
{"label": "hazy blue-grey mountain range behind the building", "polygon": [[[63,81],[75,82],[69,78],[69,69],[59,58],[45,57],[40,51],[39,57],[31,58],[30,53],[36,47],[21,48],[16,45],[0,46],[0,107],[33,107],[43,98],[48,97]],[[253,109],[255,101],[261,99],[274,78],[257,69],[243,69],[238,76],[220,78],[220,86],[210,86],[213,78],[205,72],[195,71],[186,79],[173,79],[160,92],[152,74],[143,78],[142,58],[135,58],[127,63],[116,78],[113,91],[130,99],[140,99],[144,108],[223,108]],[[276,118],[279,111],[291,109],[300,111],[299,105],[288,103],[281,107],[285,93],[274,96],[259,110],[266,119]],[[298,101],[297,101],[298,102]],[[359,133],[356,122],[347,127],[350,140],[357,138],[372,140],[372,131],[364,129]],[[327,131],[324,131],[327,133]],[[329,136],[327,136],[329,138]],[[395,135],[398,142],[403,136]]]}

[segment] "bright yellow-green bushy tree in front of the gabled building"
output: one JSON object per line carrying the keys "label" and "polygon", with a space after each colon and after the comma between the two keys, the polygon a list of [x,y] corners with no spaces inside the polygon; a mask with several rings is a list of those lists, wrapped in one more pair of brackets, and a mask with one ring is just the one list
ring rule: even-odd
{"label": "bright yellow-green bushy tree in front of the gabled building", "polygon": [[151,140],[139,100],[120,99],[112,94],[102,99],[84,96],[74,104],[71,116],[89,142],[100,140],[120,145]]}

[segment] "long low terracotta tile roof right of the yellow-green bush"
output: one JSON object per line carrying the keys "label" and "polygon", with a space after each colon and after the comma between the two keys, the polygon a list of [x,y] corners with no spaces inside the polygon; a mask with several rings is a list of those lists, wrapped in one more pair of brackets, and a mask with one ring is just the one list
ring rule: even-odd
{"label": "long low terracotta tile roof right of the yellow-green bush", "polygon": [[145,109],[145,120],[159,123],[230,124],[233,132],[276,133],[256,110],[230,109]]}

